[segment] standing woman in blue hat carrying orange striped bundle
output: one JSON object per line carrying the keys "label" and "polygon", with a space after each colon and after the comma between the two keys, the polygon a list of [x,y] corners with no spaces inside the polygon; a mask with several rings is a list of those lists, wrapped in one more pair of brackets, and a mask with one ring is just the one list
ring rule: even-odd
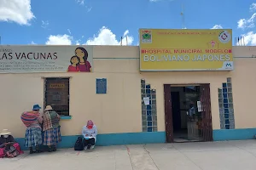
{"label": "standing woman in blue hat carrying orange striped bundle", "polygon": [[[40,116],[41,107],[33,105],[32,111],[26,111],[21,115],[21,121],[26,125],[25,146],[29,148],[30,153],[40,152],[39,145],[42,144],[42,127],[43,122]],[[36,148],[36,151],[32,149]]]}

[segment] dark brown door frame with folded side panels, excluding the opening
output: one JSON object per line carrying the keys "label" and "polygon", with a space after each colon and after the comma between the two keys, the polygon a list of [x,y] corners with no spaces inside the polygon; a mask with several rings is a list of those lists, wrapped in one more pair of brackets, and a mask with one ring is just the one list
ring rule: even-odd
{"label": "dark brown door frame with folded side panels, excluding the opening", "polygon": [[[201,89],[207,89],[207,93],[201,92],[201,105],[206,112],[202,121],[203,141],[212,141],[212,106],[211,106],[211,88],[210,83],[188,83],[188,84],[164,84],[164,106],[165,106],[165,123],[166,123],[166,143],[173,143],[173,123],[172,123],[172,87],[199,86]],[[204,99],[202,99],[204,95]],[[209,98],[206,99],[206,96]]]}

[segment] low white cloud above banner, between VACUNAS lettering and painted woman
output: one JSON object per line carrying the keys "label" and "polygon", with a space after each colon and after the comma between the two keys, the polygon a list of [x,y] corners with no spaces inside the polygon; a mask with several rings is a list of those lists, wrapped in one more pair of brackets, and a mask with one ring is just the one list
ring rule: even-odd
{"label": "low white cloud above banner, between VACUNAS lettering and painted woman", "polygon": [[64,35],[50,35],[48,37],[48,41],[45,42],[46,45],[71,45],[73,37],[68,36],[67,34]]}

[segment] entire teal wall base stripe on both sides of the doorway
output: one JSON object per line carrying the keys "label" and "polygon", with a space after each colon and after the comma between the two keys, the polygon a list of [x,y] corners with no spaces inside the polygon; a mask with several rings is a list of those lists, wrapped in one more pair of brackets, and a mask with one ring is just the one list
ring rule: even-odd
{"label": "entire teal wall base stripe on both sides of the doorway", "polygon": [[[215,129],[212,132],[213,141],[254,139],[255,135],[256,128]],[[62,141],[58,144],[58,148],[73,148],[78,137],[79,135],[62,136]],[[24,138],[15,140],[20,144],[21,150],[27,150],[27,148],[24,147]],[[96,145],[157,144],[165,142],[166,132],[107,133],[97,136]]]}

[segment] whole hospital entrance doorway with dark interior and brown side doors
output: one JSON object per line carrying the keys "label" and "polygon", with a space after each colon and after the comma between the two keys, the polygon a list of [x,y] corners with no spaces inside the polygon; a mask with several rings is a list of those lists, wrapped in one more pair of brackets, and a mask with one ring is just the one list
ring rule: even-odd
{"label": "whole hospital entrance doorway with dark interior and brown side doors", "polygon": [[166,141],[212,141],[209,84],[164,85]]}

